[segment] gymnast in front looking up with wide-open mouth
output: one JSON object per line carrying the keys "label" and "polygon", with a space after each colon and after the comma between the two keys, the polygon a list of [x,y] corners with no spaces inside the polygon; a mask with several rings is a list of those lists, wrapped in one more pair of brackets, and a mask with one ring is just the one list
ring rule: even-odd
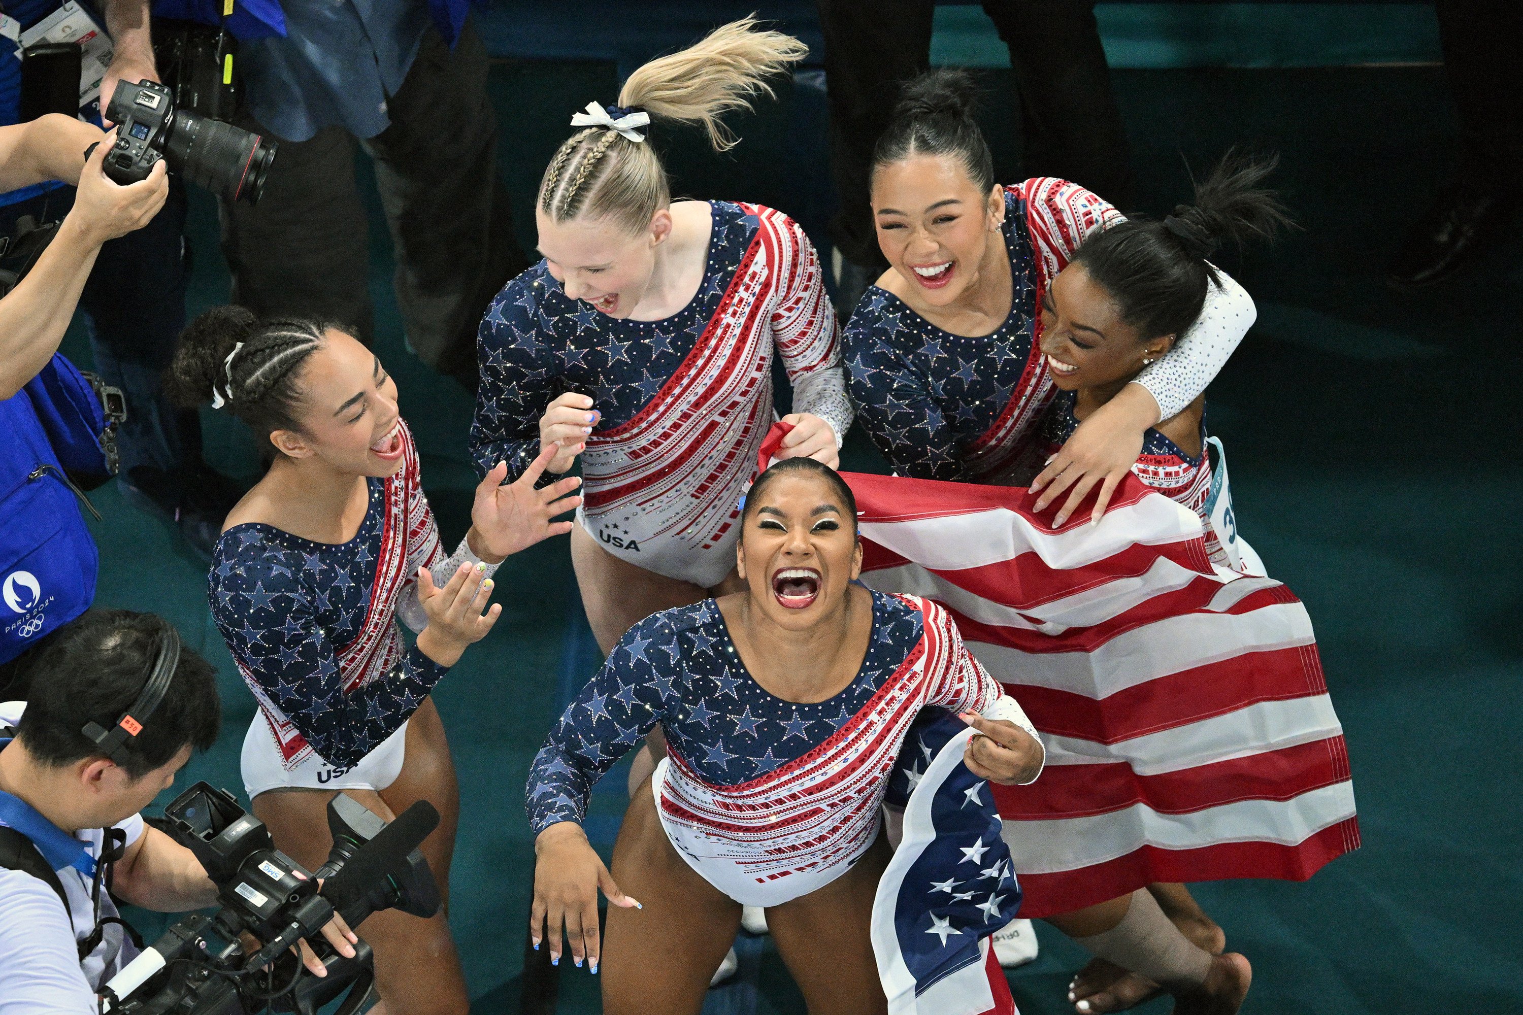
{"label": "gymnast in front looking up with wide-open mouth", "polygon": [[[565,933],[576,965],[602,963],[605,1012],[694,1013],[742,904],[760,905],[812,1015],[882,1012],[880,803],[911,723],[961,714],[979,779],[1031,782],[1045,752],[946,610],[853,583],[856,502],[827,466],[768,469],[734,552],[743,589],[637,622],[535,758],[530,934],[556,962]],[[582,831],[589,793],[656,726],[669,753],[609,870]]]}

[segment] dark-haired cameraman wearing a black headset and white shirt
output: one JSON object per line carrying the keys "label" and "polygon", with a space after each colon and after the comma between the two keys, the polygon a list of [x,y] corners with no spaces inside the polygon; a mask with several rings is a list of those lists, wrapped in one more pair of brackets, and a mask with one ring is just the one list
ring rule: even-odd
{"label": "dark-haired cameraman wearing a black headset and white shirt", "polygon": [[[113,896],[216,905],[190,851],[139,814],[216,740],[215,671],[158,616],[91,610],[27,677],[27,703],[0,705],[0,1015],[88,1015],[137,953]],[[341,921],[323,934],[353,956]],[[305,942],[303,959],[324,975]]]}

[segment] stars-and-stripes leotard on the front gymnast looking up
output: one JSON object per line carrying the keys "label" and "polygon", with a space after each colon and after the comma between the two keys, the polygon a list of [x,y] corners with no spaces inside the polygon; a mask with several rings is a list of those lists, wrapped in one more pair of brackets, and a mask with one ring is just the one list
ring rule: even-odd
{"label": "stars-and-stripes leotard on the front gymnast looking up", "polygon": [[545,740],[528,776],[530,823],[538,835],[580,822],[597,779],[659,724],[669,753],[656,808],[672,845],[720,892],[777,905],[829,884],[873,843],[921,709],[988,712],[1001,700],[929,600],[874,592],[862,668],[816,705],[777,698],[751,677],[714,600],[663,610],[624,635]]}

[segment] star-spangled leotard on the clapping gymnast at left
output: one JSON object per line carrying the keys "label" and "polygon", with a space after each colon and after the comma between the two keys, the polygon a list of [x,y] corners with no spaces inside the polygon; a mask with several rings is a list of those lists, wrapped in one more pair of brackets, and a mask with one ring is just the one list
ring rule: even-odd
{"label": "star-spangled leotard on the clapping gymnast at left", "polygon": [[426,622],[416,604],[417,569],[442,575],[442,566],[463,560],[458,552],[445,560],[405,423],[402,447],[396,475],[369,479],[370,502],[347,543],[317,543],[259,522],[235,525],[216,543],[212,616],[259,702],[244,749],[250,796],[276,784],[306,785],[308,776],[346,788],[334,779],[382,744],[391,744],[394,778],[394,735],[446,673],[407,645],[398,627],[399,616],[414,630]]}

